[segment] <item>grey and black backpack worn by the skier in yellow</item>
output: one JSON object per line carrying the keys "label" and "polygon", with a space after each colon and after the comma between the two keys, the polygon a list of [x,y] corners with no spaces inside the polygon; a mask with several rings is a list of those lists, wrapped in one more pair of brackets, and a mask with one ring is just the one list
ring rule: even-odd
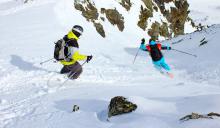
{"label": "grey and black backpack worn by the skier in yellow", "polygon": [[64,46],[65,41],[63,39],[58,40],[55,42],[55,48],[54,48],[54,59],[57,61],[64,60]]}

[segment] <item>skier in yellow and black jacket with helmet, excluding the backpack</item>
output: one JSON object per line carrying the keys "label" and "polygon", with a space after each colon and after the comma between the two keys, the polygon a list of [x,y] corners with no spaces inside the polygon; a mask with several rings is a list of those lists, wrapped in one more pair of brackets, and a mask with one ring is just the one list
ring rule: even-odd
{"label": "skier in yellow and black jacket with helmet, excluding the backpack", "polygon": [[73,26],[72,30],[63,37],[63,50],[61,50],[61,56],[64,59],[60,60],[63,64],[63,68],[60,73],[69,73],[70,79],[77,79],[82,73],[82,66],[78,61],[85,60],[87,63],[92,59],[92,55],[86,56],[79,53],[78,39],[83,33],[83,28],[79,25]]}

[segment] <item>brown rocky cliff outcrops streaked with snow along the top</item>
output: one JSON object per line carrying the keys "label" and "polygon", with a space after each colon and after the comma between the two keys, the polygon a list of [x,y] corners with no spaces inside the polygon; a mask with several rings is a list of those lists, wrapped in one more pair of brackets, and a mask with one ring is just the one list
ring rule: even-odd
{"label": "brown rocky cliff outcrops streaked with snow along the top", "polygon": [[[190,11],[187,0],[139,0],[138,3],[140,1],[140,7],[136,10],[139,12],[137,26],[146,31],[152,38],[157,39],[159,36],[170,38],[171,36],[182,35],[184,34],[186,22],[191,22],[191,25],[195,27],[189,17]],[[112,0],[112,2],[116,1]],[[120,0],[117,2],[121,5],[121,8],[129,12],[137,1]],[[116,7],[97,8],[93,0],[75,0],[74,7],[82,12],[82,16],[88,22],[93,23],[102,37],[107,35],[101,22],[110,22],[112,25],[116,25],[119,31],[123,31],[126,28],[125,18]]]}

